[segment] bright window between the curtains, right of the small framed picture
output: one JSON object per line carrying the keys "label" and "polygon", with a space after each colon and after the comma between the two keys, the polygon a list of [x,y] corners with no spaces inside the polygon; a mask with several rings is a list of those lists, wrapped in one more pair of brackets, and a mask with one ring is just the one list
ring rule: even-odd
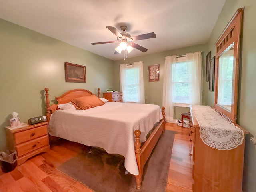
{"label": "bright window between the curtains, right of the small framed picture", "polygon": [[191,62],[186,57],[178,58],[172,64],[173,102],[176,104],[190,104],[191,90]]}

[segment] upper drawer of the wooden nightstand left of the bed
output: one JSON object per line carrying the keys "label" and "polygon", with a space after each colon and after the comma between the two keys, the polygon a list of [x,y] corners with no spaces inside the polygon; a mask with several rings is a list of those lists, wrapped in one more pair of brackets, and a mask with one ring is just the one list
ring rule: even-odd
{"label": "upper drawer of the wooden nightstand left of the bed", "polygon": [[15,144],[20,144],[22,142],[26,142],[28,140],[32,140],[46,134],[48,134],[47,125],[28,129],[22,132],[17,132],[14,134]]}

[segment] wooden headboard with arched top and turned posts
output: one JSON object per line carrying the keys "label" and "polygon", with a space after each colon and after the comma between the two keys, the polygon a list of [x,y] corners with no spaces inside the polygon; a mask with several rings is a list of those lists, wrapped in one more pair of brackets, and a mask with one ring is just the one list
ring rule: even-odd
{"label": "wooden headboard with arched top and turned posts", "polygon": [[[92,92],[86,89],[72,89],[67,91],[66,93],[62,94],[59,97],[55,97],[57,100],[57,104],[52,104],[50,106],[50,100],[49,100],[49,88],[45,88],[45,103],[46,103],[46,119],[49,122],[51,114],[58,109],[58,104],[64,104],[71,102],[72,99],[83,97],[83,96],[89,96],[94,95]],[[98,97],[100,97],[100,88],[98,88]]]}

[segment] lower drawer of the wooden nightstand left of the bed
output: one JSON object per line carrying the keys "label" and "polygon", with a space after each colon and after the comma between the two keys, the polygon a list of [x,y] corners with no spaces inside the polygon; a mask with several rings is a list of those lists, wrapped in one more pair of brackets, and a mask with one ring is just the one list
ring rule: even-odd
{"label": "lower drawer of the wooden nightstand left of the bed", "polygon": [[48,135],[16,145],[18,157],[49,145]]}

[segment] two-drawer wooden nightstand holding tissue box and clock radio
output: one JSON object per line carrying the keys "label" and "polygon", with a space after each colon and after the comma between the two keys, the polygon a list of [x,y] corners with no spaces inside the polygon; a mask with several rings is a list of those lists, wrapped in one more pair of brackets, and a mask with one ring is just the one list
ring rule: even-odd
{"label": "two-drawer wooden nightstand holding tissue box and clock radio", "polygon": [[47,124],[48,122],[41,122],[14,130],[5,127],[7,148],[8,150],[16,150],[18,155],[17,165],[50,149]]}

